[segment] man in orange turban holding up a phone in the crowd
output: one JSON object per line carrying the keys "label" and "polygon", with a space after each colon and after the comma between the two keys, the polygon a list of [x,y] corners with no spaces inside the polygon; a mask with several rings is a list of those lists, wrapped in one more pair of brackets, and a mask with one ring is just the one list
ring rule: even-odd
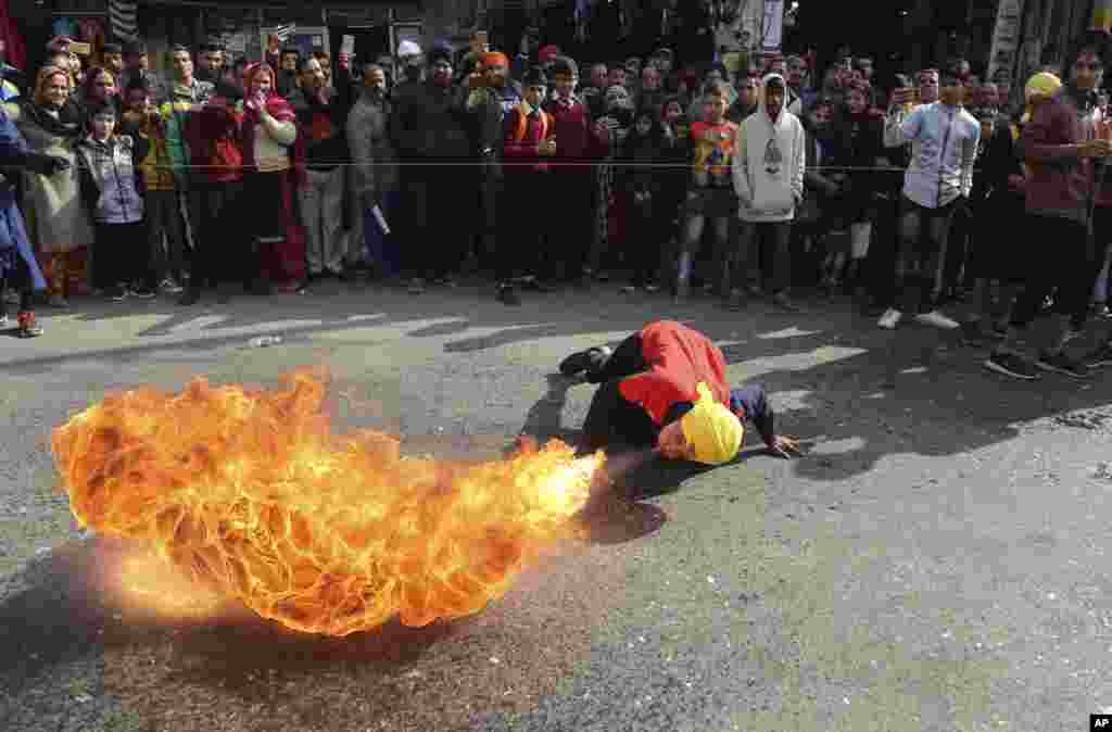
{"label": "man in orange turban holding up a phone in the crowd", "polygon": [[503,128],[506,116],[522,103],[522,87],[508,78],[509,59],[505,53],[487,51],[479,62],[483,86],[468,95],[467,108],[476,118],[477,147],[483,161],[478,180],[483,220],[478,230],[484,255],[480,258],[485,258],[499,249],[495,239],[498,236],[498,204],[503,198]]}

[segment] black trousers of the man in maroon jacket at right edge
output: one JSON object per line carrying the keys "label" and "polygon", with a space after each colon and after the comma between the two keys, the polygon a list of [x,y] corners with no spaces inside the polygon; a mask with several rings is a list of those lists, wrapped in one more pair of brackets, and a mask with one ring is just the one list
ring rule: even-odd
{"label": "black trousers of the man in maroon jacket at right edge", "polygon": [[1027,241],[1053,243],[1053,250],[1037,246],[1027,249],[1025,287],[1015,298],[1012,326],[1025,328],[1030,325],[1039,315],[1042,301],[1058,288],[1054,311],[1070,316],[1073,327],[1080,330],[1085,324],[1089,300],[1102,264],[1096,261],[1088,228],[1080,221],[1034,215],[1026,217],[1025,225]]}

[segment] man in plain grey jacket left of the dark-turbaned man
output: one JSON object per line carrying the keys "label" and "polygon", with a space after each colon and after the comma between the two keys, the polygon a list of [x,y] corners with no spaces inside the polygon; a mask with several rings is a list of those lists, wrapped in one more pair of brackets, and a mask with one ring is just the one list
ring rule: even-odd
{"label": "man in plain grey jacket left of the dark-turbaned man", "polygon": [[[367,256],[384,279],[397,275],[399,265],[397,240],[387,236],[374,210],[377,206],[387,227],[397,218],[398,166],[389,136],[393,108],[387,93],[386,69],[379,63],[365,63],[363,88],[347,121],[351,192],[355,198],[353,208],[356,216],[361,216]],[[353,227],[355,229],[357,227]],[[349,263],[364,257],[364,243],[356,237],[355,245],[359,250],[349,247]]]}

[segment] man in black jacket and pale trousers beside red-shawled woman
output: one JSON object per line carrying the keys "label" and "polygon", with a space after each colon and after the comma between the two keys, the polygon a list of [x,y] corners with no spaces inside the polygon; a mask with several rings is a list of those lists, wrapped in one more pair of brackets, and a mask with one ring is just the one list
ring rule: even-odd
{"label": "man in black jacket and pale trousers beside red-shawled woman", "polygon": [[309,281],[344,275],[344,166],[348,162],[347,106],[328,86],[320,62],[298,62],[298,88],[289,105],[305,141],[305,184],[298,209],[305,228]]}

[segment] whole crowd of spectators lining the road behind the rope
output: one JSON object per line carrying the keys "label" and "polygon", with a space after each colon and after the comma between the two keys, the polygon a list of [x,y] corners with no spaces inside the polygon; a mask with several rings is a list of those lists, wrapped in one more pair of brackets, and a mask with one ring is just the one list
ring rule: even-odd
{"label": "whole crowd of spectators lining the road behind the rope", "polygon": [[[1017,378],[1112,359],[1065,353],[1108,313],[1101,34],[1015,109],[961,58],[880,85],[848,50],[820,72],[813,55],[724,43],[580,67],[530,42],[335,62],[210,42],[171,48],[162,73],[142,42],[91,65],[69,43],[0,105],[56,160],[3,174],[36,255],[0,257],[23,335],[41,333],[36,283],[56,308],[86,291],[188,307],[229,283],[306,294],[364,274],[419,295],[477,266],[507,306],[616,278],[734,309],[796,309],[817,288],[882,328],[906,316],[995,342],[985,365]],[[971,293],[962,320],[944,314]],[[1016,344],[1048,311],[1061,327],[1027,358]]]}

